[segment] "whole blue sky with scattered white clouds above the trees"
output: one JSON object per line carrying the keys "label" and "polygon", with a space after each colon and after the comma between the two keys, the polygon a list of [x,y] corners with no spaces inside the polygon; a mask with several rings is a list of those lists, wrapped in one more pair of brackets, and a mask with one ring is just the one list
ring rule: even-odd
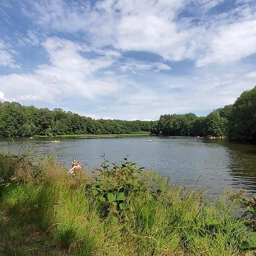
{"label": "whole blue sky with scattered white clouds above the trees", "polygon": [[156,120],[255,85],[255,0],[0,1],[1,102]]}

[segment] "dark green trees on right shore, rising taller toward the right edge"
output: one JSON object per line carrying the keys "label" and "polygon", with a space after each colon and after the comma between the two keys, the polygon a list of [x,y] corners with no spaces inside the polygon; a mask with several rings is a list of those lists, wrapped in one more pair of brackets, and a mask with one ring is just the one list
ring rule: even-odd
{"label": "dark green trees on right shore, rising taller toward the right edge", "polygon": [[151,133],[168,136],[228,137],[256,142],[256,86],[245,91],[233,105],[213,110],[206,117],[193,113],[165,114],[151,126]]}

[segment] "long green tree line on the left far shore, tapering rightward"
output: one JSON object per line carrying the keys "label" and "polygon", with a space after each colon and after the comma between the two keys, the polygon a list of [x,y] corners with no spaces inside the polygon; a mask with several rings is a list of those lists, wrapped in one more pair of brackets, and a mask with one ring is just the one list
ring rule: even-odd
{"label": "long green tree line on the left far shore, tapering rightward", "polygon": [[150,131],[149,121],[94,120],[62,109],[36,109],[17,102],[0,102],[0,136],[125,134]]}

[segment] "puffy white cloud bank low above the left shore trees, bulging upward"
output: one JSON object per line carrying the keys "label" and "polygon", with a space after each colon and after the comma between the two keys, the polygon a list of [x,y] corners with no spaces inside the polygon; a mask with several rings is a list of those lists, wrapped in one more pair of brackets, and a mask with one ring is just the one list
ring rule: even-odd
{"label": "puffy white cloud bank low above the left shore trees, bulging upward", "polygon": [[88,50],[85,45],[56,37],[47,39],[43,47],[48,52],[49,64],[39,65],[32,73],[0,76],[3,92],[10,92],[20,101],[54,102],[72,96],[104,96],[122,88],[117,80],[101,79],[97,75],[101,69],[110,67],[115,57],[102,55],[86,59],[82,56]]}

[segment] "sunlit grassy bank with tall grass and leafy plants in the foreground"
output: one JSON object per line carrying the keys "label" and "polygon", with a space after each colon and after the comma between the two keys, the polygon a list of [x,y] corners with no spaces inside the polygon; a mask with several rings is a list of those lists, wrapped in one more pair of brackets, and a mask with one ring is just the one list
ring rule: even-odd
{"label": "sunlit grassy bank with tall grass and leafy plants in the foreground", "polygon": [[94,177],[26,161],[1,157],[0,255],[255,253],[255,226],[237,218],[234,198],[209,202],[127,159]]}

